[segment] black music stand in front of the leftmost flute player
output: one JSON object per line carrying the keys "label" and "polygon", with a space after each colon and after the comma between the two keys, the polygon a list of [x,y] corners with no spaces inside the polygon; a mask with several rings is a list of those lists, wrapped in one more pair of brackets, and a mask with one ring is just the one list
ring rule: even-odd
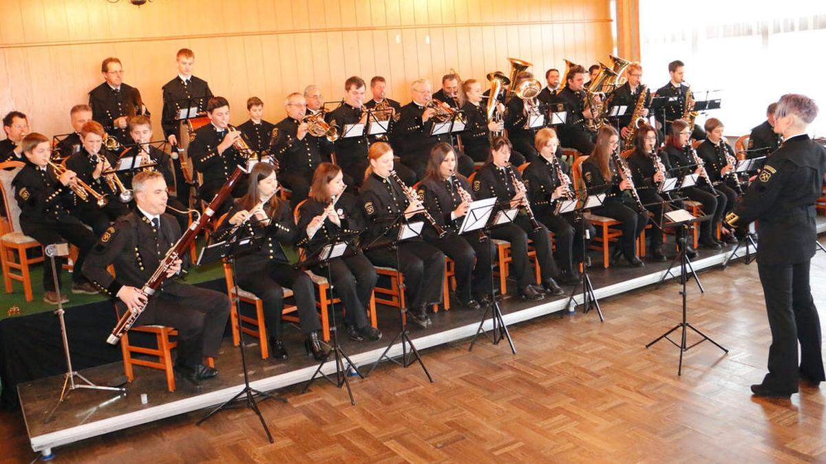
{"label": "black music stand in front of the leftmost flute player", "polygon": [[[230,230],[228,237],[224,241],[218,242],[216,244],[207,245],[204,249],[201,250],[201,255],[198,257],[197,266],[201,266],[205,263],[214,263],[218,260],[224,259],[230,263],[230,272],[232,275],[232,282],[235,285],[233,299],[235,299],[235,315],[238,318],[238,324],[242,324],[241,322],[241,300],[239,296],[239,288],[238,288],[238,278],[235,274],[235,258],[241,256],[246,253],[252,253],[255,249],[258,249],[255,245],[259,244],[260,241],[265,239],[265,236],[260,237],[250,237],[242,236],[241,233],[245,232],[245,228],[236,227],[235,230]],[[277,261],[282,261],[284,263],[288,263],[287,256],[285,256],[280,248],[276,253],[280,252],[278,256],[276,256]],[[247,368],[247,357],[246,357],[246,348],[247,344],[244,341],[244,330],[239,330],[240,332],[240,343],[238,348],[241,352],[241,367],[244,369],[244,388],[238,392],[235,396],[230,398],[230,400],[225,401],[223,405],[216,407],[215,409],[211,410],[209,414],[202,417],[202,419],[198,420],[195,425],[201,425],[205,420],[211,418],[213,415],[217,414],[218,411],[229,409],[234,405],[236,401],[246,401],[246,406],[253,410],[253,412],[259,416],[259,420],[261,421],[261,426],[263,427],[264,432],[267,433],[267,438],[269,439],[269,443],[273,442],[273,434],[269,432],[269,428],[267,426],[267,422],[263,419],[263,415],[261,414],[261,410],[259,410],[258,402],[255,400],[254,396],[263,397],[264,400],[274,399],[279,400],[284,403],[287,400],[283,399],[280,396],[273,396],[263,391],[255,390],[252,386],[249,386],[249,370]]]}

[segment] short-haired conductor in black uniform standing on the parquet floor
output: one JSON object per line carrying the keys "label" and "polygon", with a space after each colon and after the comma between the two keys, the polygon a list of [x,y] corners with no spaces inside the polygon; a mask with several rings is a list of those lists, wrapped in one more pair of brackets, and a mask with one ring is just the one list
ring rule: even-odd
{"label": "short-haired conductor in black uniform standing on the parquet floor", "polygon": [[820,320],[809,286],[817,240],[814,206],[826,173],[826,149],[806,135],[817,114],[809,97],[781,97],[774,130],[784,142],[726,217],[741,233],[753,220],[759,221],[757,271],[766,296],[771,346],[769,372],[752,385],[755,396],[788,398],[799,384],[817,388],[826,380]]}

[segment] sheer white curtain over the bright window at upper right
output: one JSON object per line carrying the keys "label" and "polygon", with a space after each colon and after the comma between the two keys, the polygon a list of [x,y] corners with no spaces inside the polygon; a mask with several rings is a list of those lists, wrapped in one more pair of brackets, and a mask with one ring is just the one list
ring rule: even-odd
{"label": "sheer white curtain over the bright window at upper right", "polygon": [[748,134],[784,93],[814,98],[810,126],[826,136],[826,2],[695,0],[639,2],[643,82],[659,88],[668,63],[686,64],[695,91],[719,90],[723,107],[700,116],[723,121],[725,134]]}

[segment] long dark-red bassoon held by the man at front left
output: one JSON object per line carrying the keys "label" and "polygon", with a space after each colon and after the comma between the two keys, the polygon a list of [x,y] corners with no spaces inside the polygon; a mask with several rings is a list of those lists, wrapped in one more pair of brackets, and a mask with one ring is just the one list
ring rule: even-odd
{"label": "long dark-red bassoon held by the man at front left", "polygon": [[[140,292],[147,298],[153,296],[164,281],[166,281],[166,272],[172,267],[173,263],[175,263],[179,257],[187,253],[189,245],[195,241],[197,234],[201,232],[201,230],[212,219],[212,216],[215,215],[218,207],[221,206],[221,203],[225,201],[226,197],[230,196],[232,188],[235,187],[236,183],[238,183],[238,180],[241,178],[241,174],[243,173],[245,173],[244,168],[241,168],[240,166],[235,168],[235,173],[232,173],[229,180],[226,181],[224,186],[221,187],[221,190],[219,190],[215,197],[212,198],[209,206],[207,206],[207,209],[204,210],[204,214],[198,215],[197,219],[189,225],[187,231],[181,235],[180,239],[178,239],[178,242],[167,250],[166,256],[164,256],[164,259],[161,260],[158,268],[155,269],[155,272],[152,274],[152,277],[150,277],[144,286],[140,288]],[[124,313],[124,315],[121,316],[121,319],[117,321],[115,329],[112,329],[112,334],[109,335],[107,343],[112,345],[117,344],[123,334],[126,334],[126,331],[131,329],[132,325],[135,324],[135,321],[138,320],[140,314],[143,313],[145,309],[146,305],[135,308],[135,310],[127,309],[126,313]]]}

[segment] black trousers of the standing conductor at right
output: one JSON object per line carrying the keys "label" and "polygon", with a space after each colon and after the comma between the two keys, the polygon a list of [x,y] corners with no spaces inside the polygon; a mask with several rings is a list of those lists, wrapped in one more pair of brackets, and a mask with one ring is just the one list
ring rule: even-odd
{"label": "black trousers of the standing conductor at right", "polygon": [[820,320],[809,287],[810,263],[769,265],[757,260],[771,328],[769,372],[762,383],[773,391],[797,391],[800,372],[815,381],[826,380]]}

